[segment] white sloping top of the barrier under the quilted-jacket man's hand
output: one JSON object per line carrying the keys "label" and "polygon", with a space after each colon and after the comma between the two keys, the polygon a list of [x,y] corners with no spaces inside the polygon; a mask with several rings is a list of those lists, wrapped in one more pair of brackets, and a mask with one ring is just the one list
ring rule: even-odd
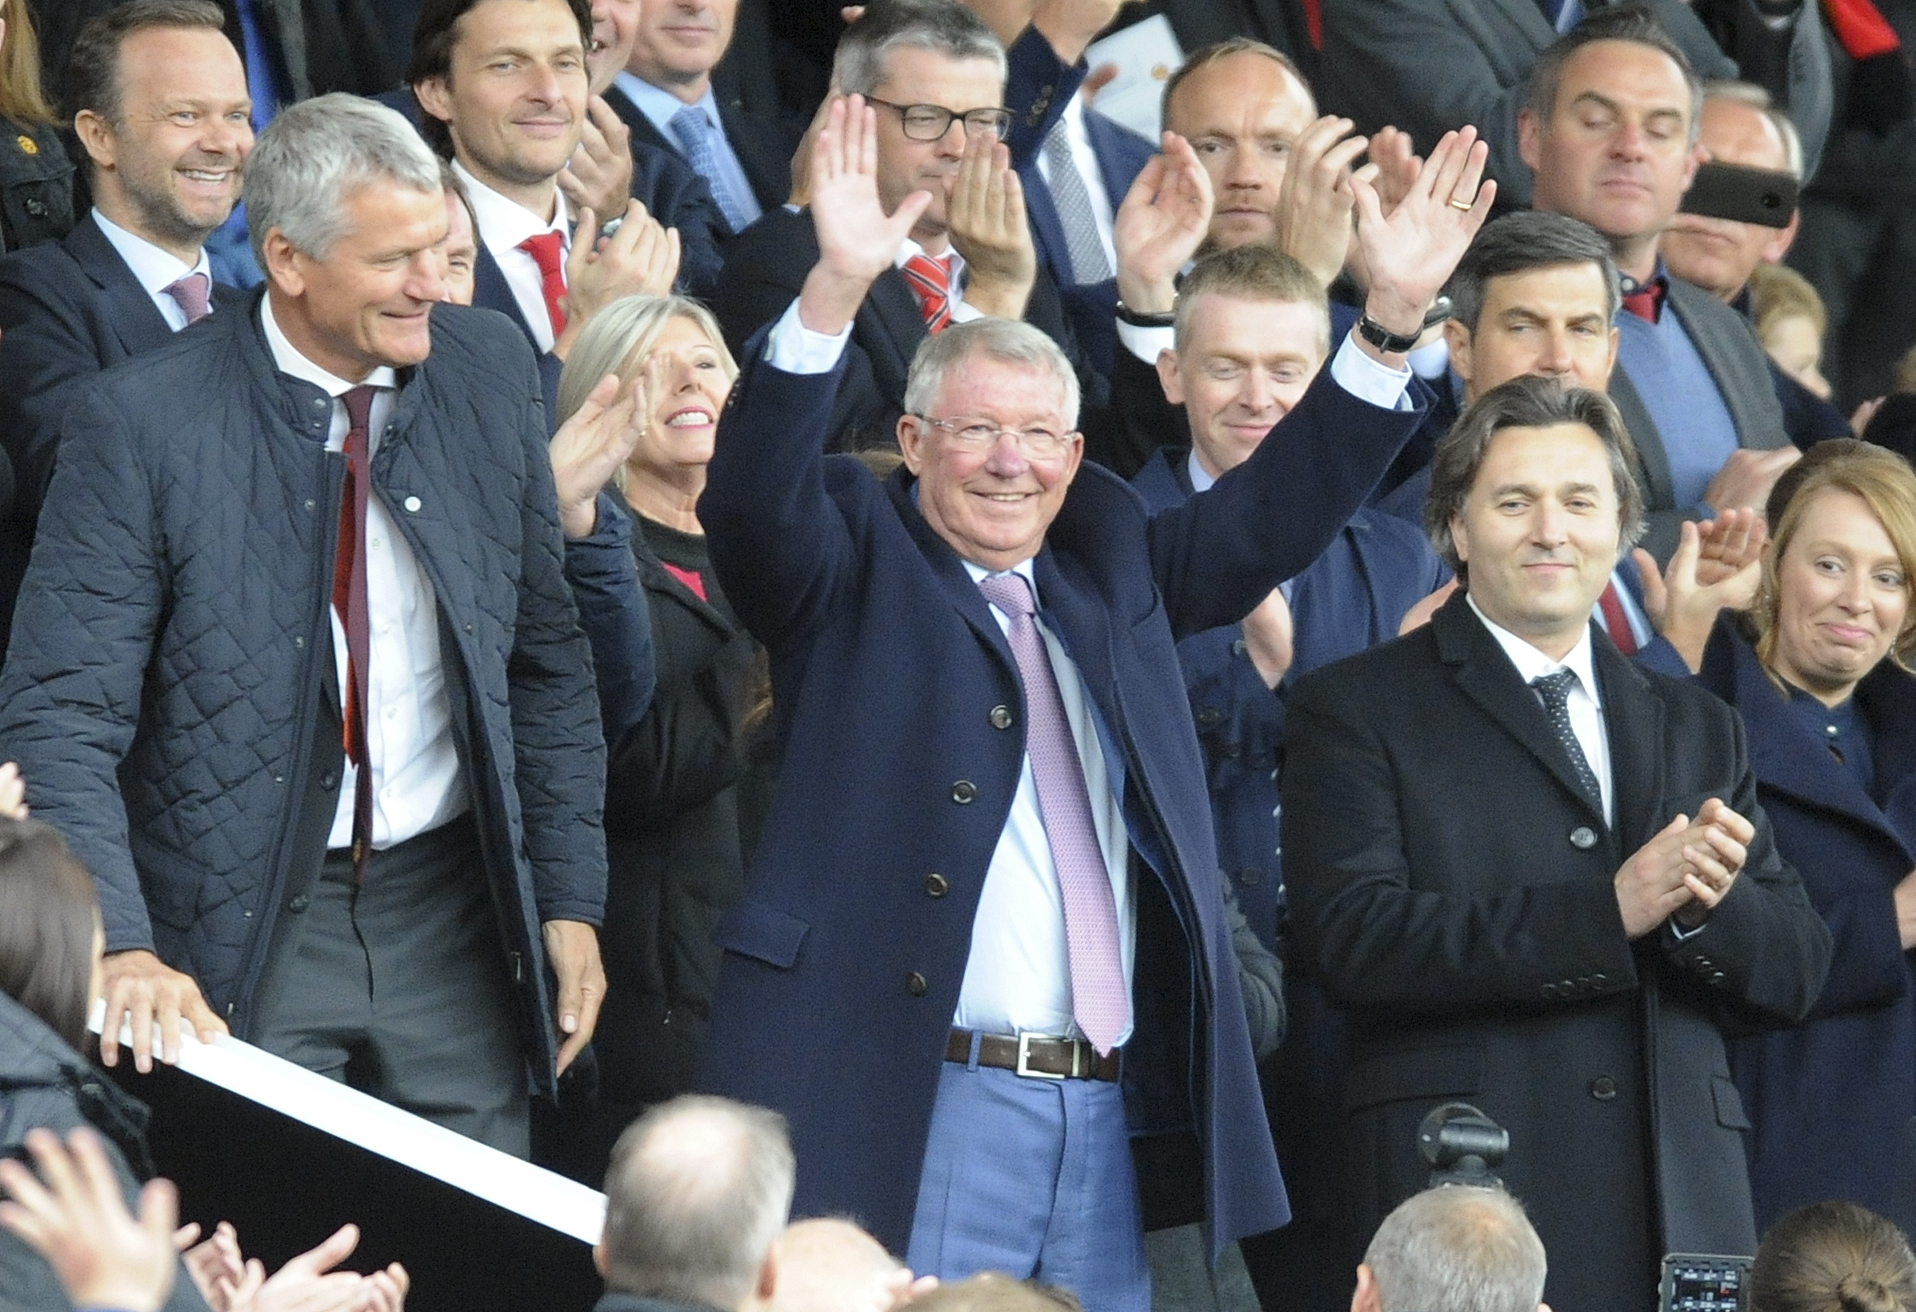
{"label": "white sloping top of the barrier under the quilted-jacket man's hand", "polygon": [[[96,1002],[90,1019],[96,1034],[103,1021],[105,1004]],[[130,1046],[132,1025],[125,1023],[121,1025],[123,1061],[130,1059],[126,1055]],[[153,1027],[153,1053],[157,1061],[157,1025]],[[519,1161],[477,1140],[468,1140],[464,1134],[454,1134],[410,1111],[381,1103],[370,1094],[328,1080],[324,1074],[314,1074],[238,1038],[222,1034],[211,1044],[201,1044],[192,1030],[182,1030],[180,1071],[581,1243],[598,1243],[600,1230],[605,1226],[605,1195],[598,1189],[588,1189],[577,1180]]]}

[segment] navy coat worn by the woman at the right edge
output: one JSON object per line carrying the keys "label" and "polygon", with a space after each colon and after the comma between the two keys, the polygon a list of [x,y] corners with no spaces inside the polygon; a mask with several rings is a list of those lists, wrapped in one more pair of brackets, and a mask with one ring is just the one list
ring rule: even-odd
{"label": "navy coat worn by the woman at the right edge", "polygon": [[1857,686],[1874,795],[1797,718],[1734,621],[1711,634],[1698,678],[1742,713],[1776,850],[1836,939],[1811,1017],[1730,1050],[1753,1126],[1757,1226],[1818,1199],[1849,1199],[1910,1226],[1916,973],[1897,937],[1893,891],[1916,870],[1916,678],[1883,661]]}

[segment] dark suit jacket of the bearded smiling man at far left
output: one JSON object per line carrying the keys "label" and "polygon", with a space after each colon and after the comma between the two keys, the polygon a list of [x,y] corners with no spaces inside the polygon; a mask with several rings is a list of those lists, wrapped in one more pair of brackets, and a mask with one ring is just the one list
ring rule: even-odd
{"label": "dark suit jacket of the bearded smiling man at far left", "polygon": [[[232,312],[245,293],[215,283],[213,305]],[[0,444],[15,483],[0,523],[0,651],[67,406],[102,370],[169,341],[172,328],[92,215],[57,243],[0,259]]]}

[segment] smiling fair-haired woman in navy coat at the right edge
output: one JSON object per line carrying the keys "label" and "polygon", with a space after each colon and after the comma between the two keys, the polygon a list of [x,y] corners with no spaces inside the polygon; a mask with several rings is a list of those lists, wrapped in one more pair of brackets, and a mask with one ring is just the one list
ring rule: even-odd
{"label": "smiling fair-haired woman in navy coat at the right edge", "polygon": [[1916,1128],[1916,475],[1895,454],[1820,442],[1770,494],[1747,617],[1711,638],[1701,680],[1749,730],[1776,847],[1836,937],[1822,998],[1740,1040],[1759,1228],[1818,1199],[1897,1216]]}

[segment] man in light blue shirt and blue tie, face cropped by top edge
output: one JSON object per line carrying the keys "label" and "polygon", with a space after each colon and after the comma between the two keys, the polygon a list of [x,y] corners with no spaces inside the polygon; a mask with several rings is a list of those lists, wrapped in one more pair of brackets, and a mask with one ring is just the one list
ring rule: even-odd
{"label": "man in light blue shirt and blue tie, face cropped by top edge", "polygon": [[711,184],[730,236],[791,199],[797,128],[745,113],[713,92],[738,0],[638,0],[628,17],[636,27],[632,54],[605,103],[632,140],[690,163]]}

